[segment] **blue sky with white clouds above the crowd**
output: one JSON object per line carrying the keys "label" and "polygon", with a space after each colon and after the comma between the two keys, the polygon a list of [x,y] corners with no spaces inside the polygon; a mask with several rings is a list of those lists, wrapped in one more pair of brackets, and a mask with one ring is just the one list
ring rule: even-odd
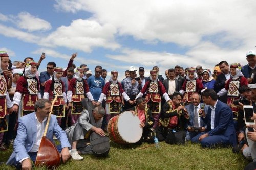
{"label": "blue sky with white clouds above the crowd", "polygon": [[[119,72],[176,65],[212,70],[220,61],[246,65],[256,45],[256,1],[8,0],[0,11],[0,50],[12,61],[33,57],[40,71],[54,61],[66,68],[97,65]],[[138,74],[138,73],[137,73]],[[165,76],[163,76],[165,78]]]}

